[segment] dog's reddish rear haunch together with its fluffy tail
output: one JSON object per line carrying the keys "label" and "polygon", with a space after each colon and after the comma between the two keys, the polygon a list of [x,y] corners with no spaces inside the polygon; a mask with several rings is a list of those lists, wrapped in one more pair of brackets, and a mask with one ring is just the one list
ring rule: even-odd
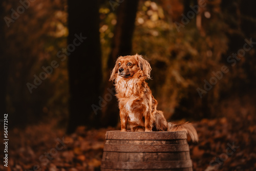
{"label": "dog's reddish rear haunch together with its fluffy tail", "polygon": [[195,127],[188,122],[182,124],[174,124],[172,122],[166,121],[163,112],[157,111],[156,113],[156,129],[157,131],[169,131],[169,132],[176,132],[176,131],[185,131],[194,142],[198,142],[198,135]]}

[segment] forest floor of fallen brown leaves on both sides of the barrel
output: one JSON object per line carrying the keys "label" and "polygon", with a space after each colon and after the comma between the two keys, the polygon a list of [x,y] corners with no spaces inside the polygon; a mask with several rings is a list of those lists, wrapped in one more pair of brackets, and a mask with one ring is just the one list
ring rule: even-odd
{"label": "forest floor of fallen brown leaves on both sides of the barrel", "polygon": [[[255,170],[254,108],[240,100],[222,105],[223,117],[193,123],[199,135],[198,143],[188,137],[193,169]],[[86,130],[81,126],[66,135],[56,125],[52,121],[9,131],[8,167],[1,162],[0,170],[100,170],[105,132],[118,128]]]}

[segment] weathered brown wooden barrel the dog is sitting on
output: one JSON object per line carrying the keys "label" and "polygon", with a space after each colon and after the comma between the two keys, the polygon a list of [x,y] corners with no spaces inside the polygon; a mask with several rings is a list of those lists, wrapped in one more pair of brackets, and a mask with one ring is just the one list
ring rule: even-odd
{"label": "weathered brown wooden barrel the dog is sitting on", "polygon": [[108,131],[105,138],[102,171],[193,170],[184,131]]}

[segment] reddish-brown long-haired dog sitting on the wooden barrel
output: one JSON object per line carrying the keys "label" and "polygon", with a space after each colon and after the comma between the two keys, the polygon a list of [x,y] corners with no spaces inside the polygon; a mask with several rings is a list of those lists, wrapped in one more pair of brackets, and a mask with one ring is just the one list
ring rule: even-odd
{"label": "reddish-brown long-haired dog sitting on the wooden barrel", "polygon": [[120,111],[121,132],[185,131],[195,142],[197,131],[191,123],[174,124],[166,121],[163,112],[157,110],[157,100],[145,80],[151,79],[150,63],[141,55],[120,56],[111,71]]}

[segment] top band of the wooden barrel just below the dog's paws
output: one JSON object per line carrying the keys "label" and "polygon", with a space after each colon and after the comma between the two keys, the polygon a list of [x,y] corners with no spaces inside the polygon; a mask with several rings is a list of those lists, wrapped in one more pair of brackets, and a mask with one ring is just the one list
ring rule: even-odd
{"label": "top band of the wooden barrel just below the dog's paws", "polygon": [[187,134],[185,131],[177,132],[121,132],[107,131],[105,139],[109,140],[180,140],[187,139]]}

